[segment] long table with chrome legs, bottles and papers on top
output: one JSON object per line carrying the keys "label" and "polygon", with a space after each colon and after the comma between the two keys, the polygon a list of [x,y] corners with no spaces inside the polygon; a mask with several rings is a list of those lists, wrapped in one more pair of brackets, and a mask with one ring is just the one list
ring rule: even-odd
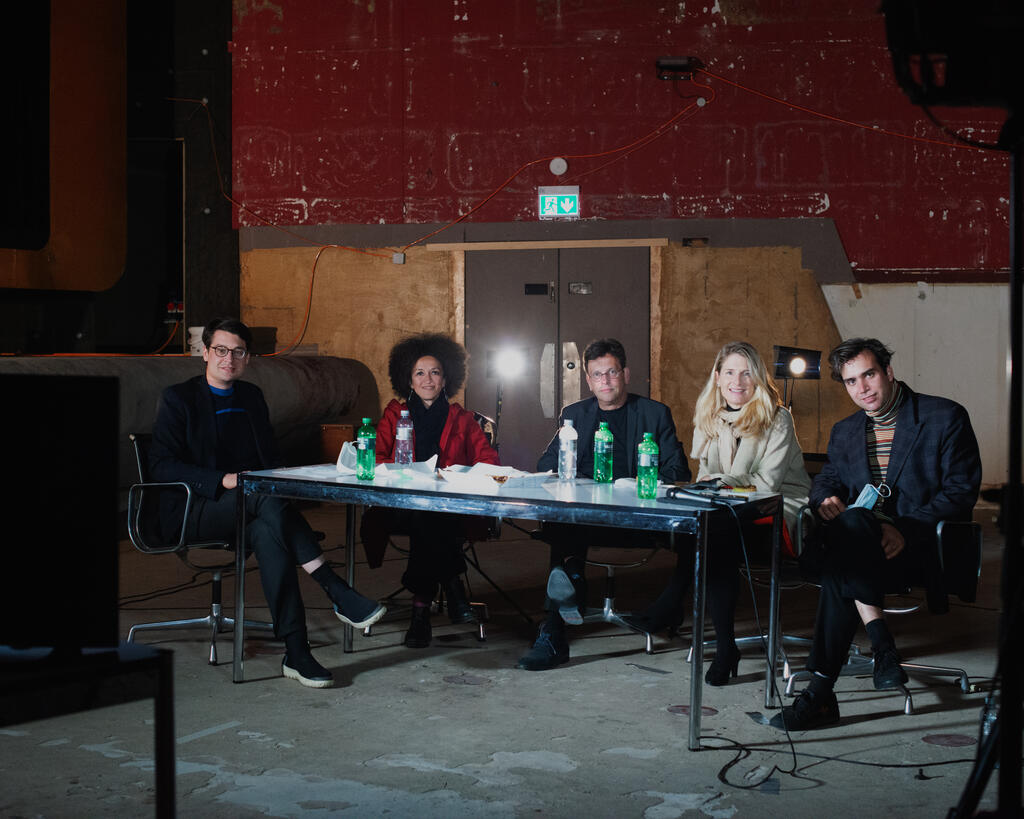
{"label": "long table with chrome legs, bottles and papers on top", "polygon": [[[335,465],[325,464],[287,469],[245,472],[240,476],[242,491],[239,503],[239,534],[236,552],[234,644],[232,679],[245,679],[243,647],[245,641],[245,497],[267,494],[299,501],[347,504],[345,531],[345,564],[348,581],[355,583],[355,514],[357,506],[380,506],[393,509],[417,509],[429,512],[451,512],[460,515],[521,520],[558,521],[561,523],[595,524],[623,529],[648,529],[695,538],[693,563],[693,651],[690,667],[690,721],[688,747],[700,748],[701,695],[703,685],[705,590],[708,566],[708,524],[712,515],[730,515],[728,504],[740,520],[772,518],[773,549],[769,592],[768,652],[765,670],[765,707],[776,707],[774,671],[779,654],[778,645],[778,567],[781,521],[781,495],[760,494],[751,498],[719,499],[705,502],[696,499],[663,498],[641,500],[632,488],[596,483],[589,478],[560,482],[550,478],[544,483],[515,482],[489,486],[465,486],[440,478],[400,479],[389,476],[375,480],[358,480],[354,475],[339,474]],[[539,578],[540,579],[540,578]],[[344,632],[344,650],[352,651],[351,627]]]}

